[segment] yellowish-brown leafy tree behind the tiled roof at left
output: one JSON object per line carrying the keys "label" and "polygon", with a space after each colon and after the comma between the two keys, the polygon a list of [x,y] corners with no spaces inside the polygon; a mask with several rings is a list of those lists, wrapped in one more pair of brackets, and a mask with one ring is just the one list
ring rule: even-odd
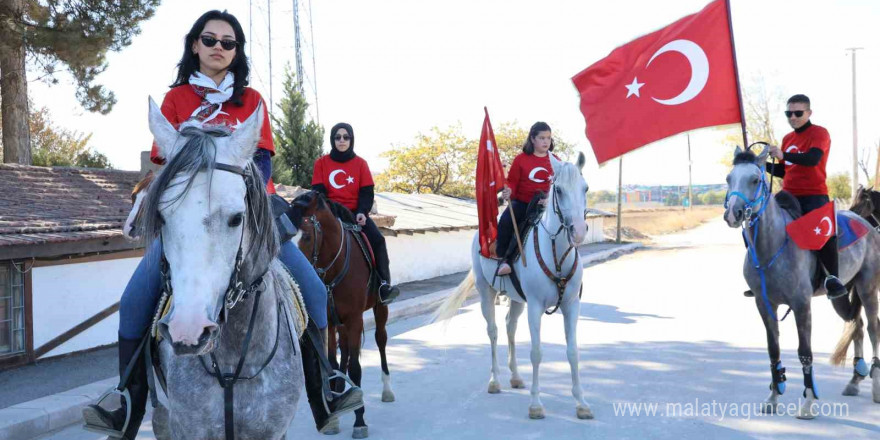
{"label": "yellowish-brown leafy tree behind the tiled roof at left", "polygon": [[107,156],[89,147],[91,134],[55,126],[45,107],[31,112],[28,127],[33,165],[112,168]]}

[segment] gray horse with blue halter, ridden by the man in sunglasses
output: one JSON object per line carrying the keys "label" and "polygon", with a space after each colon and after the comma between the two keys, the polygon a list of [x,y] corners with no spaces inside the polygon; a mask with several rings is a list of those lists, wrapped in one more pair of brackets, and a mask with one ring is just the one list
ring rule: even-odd
{"label": "gray horse with blue halter, ridden by the man in sunglasses", "polygon": [[[777,308],[787,305],[794,313],[798,329],[798,357],[804,373],[804,397],[797,417],[812,419],[816,416],[814,401],[818,399],[813,376],[813,350],[810,346],[812,331],[811,299],[825,294],[822,286],[814,288],[813,277],[818,268],[816,255],[799,248],[788,238],[785,226],[793,220],[767,187],[764,164],[769,150],[759,155],[736,147],[733,170],[727,176],[728,198],[724,219],[731,228],[743,229],[747,250],[743,275],[755,293],[755,305],[767,331],[767,349],[770,355],[770,395],[764,400],[762,411],[775,413],[779,396],[785,391],[785,368],[779,353]],[[787,193],[783,193],[788,195]],[[782,196],[785,197],[785,196]],[[793,198],[790,201],[795,202]],[[849,211],[848,218],[870,225]],[[850,295],[832,300],[834,310],[844,320],[852,320],[858,311],[854,303],[865,304],[870,315],[877,313],[878,275],[880,275],[880,234],[870,231],[867,237],[855,242],[840,253],[840,279],[852,286]],[[765,287],[762,289],[762,285]],[[853,298],[858,297],[858,300]],[[873,311],[870,308],[873,307]],[[784,319],[784,317],[783,317]],[[874,355],[877,356],[876,331],[872,334]],[[880,366],[877,367],[880,369]],[[875,371],[875,376],[880,377]],[[874,393],[880,381],[875,379]]]}

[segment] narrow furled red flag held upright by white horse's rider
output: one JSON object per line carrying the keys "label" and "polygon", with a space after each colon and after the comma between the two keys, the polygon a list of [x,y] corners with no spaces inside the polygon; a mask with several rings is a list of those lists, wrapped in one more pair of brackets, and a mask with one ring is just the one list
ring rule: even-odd
{"label": "narrow furled red flag held upright by white horse's rider", "polygon": [[480,133],[477,151],[477,217],[479,219],[480,254],[489,257],[489,247],[498,238],[498,191],[504,187],[504,169],[495,143],[495,132],[489,122],[489,110]]}

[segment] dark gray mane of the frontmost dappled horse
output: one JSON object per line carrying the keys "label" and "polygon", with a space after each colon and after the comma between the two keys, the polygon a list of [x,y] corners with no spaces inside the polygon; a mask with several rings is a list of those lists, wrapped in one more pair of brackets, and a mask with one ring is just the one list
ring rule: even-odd
{"label": "dark gray mane of the frontmost dappled horse", "polygon": [[[152,243],[162,229],[161,208],[173,205],[182,199],[192,188],[196,174],[201,171],[213,173],[217,160],[215,138],[228,137],[232,133],[229,127],[222,125],[200,126],[186,125],[180,134],[186,140],[164,169],[156,176],[147,190],[144,200],[140,227],[147,245]],[[256,262],[264,252],[274,257],[278,253],[279,243],[275,224],[272,219],[269,196],[259,178],[259,169],[253,161],[245,166],[244,179],[248,200],[247,233],[250,246],[244,255],[244,261]],[[162,193],[179,185],[185,185],[173,199],[162,201]]]}

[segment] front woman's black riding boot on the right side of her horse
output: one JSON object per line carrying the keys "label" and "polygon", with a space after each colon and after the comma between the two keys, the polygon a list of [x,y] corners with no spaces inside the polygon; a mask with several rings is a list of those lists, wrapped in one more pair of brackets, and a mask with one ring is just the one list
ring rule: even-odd
{"label": "front woman's black riding boot on the right side of her horse", "polygon": [[326,351],[321,340],[320,330],[314,321],[309,320],[306,334],[300,339],[300,351],[306,379],[306,395],[318,432],[324,432],[327,424],[334,417],[364,406],[363,391],[356,386],[352,386],[341,395],[333,396],[333,400],[327,399],[328,395],[332,396],[330,379],[341,373],[333,371],[324,354]]}

